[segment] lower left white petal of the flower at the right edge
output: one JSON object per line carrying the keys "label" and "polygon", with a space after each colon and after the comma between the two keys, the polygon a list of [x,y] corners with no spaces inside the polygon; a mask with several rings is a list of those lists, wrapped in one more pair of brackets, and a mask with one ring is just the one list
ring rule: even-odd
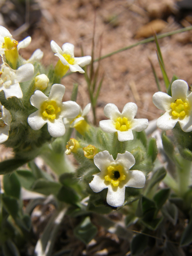
{"label": "lower left white petal of the flower at the right edge", "polygon": [[160,118],[157,120],[157,127],[160,128],[161,130],[171,130],[174,128],[178,121],[178,118],[172,118],[168,112],[165,112]]}

